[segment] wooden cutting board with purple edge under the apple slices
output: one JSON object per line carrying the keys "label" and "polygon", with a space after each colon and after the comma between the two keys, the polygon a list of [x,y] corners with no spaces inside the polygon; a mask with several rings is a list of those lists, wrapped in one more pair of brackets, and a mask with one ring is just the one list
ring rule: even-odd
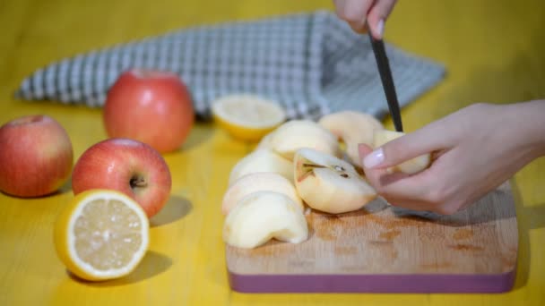
{"label": "wooden cutting board with purple edge under the apple slices", "polygon": [[500,293],[515,282],[518,231],[508,183],[452,216],[377,199],[342,215],[307,214],[309,239],[226,245],[243,293]]}

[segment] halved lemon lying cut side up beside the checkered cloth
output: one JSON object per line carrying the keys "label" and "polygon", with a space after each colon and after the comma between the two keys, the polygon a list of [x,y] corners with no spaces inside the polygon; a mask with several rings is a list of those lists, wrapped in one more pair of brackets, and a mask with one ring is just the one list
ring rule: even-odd
{"label": "halved lemon lying cut side up beside the checkered cloth", "polygon": [[286,121],[276,102],[255,95],[229,95],[212,102],[212,115],[234,138],[257,141]]}

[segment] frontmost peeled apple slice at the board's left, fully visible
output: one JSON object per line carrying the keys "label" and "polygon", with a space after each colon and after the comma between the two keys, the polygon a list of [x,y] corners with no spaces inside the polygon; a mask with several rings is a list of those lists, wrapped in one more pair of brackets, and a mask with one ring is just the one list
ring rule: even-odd
{"label": "frontmost peeled apple slice at the board's left, fully visible", "polygon": [[251,249],[272,238],[290,243],[307,240],[308,225],[297,204],[284,194],[257,191],[238,201],[223,226],[223,241]]}

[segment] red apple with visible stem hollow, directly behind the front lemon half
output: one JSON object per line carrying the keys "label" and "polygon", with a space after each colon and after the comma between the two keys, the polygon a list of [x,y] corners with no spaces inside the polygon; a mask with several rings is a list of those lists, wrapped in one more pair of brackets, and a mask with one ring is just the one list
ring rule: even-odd
{"label": "red apple with visible stem hollow, directly behind the front lemon half", "polygon": [[149,145],[129,139],[100,141],[83,152],[74,166],[74,195],[91,189],[109,189],[134,199],[148,217],[169,200],[169,166]]}

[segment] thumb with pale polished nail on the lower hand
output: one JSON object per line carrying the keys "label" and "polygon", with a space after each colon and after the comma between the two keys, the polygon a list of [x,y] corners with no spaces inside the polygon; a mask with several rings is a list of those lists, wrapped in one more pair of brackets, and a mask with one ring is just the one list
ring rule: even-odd
{"label": "thumb with pale polished nail on the lower hand", "polygon": [[368,168],[385,168],[399,165],[423,154],[450,149],[452,144],[445,135],[448,133],[441,125],[429,124],[420,130],[385,143],[368,154],[362,164]]}

